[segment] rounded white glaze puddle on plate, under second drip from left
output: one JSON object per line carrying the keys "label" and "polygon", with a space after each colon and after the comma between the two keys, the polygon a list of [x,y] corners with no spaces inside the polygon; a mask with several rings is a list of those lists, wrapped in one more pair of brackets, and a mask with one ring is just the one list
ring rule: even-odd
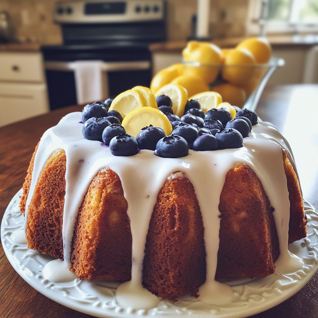
{"label": "rounded white glaze puddle on plate, under second drip from left", "polygon": [[53,283],[64,283],[77,279],[75,272],[69,270],[61,259],[53,259],[43,268],[43,277]]}

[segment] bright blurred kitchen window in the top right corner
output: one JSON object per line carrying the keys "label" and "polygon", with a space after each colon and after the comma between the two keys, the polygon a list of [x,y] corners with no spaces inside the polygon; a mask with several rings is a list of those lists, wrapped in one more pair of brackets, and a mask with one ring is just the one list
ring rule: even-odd
{"label": "bright blurred kitchen window in the top right corner", "polygon": [[317,32],[318,0],[250,0],[248,33],[259,33],[261,17],[267,33]]}

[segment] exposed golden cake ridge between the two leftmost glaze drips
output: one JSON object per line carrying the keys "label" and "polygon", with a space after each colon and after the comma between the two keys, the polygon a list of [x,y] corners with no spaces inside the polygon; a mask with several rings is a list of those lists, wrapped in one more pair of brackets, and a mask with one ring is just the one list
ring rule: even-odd
{"label": "exposed golden cake ridge between the two leftmost glaze drips", "polygon": [[65,171],[65,151],[56,150],[46,161],[38,178],[30,201],[25,230],[28,248],[59,259],[63,258]]}

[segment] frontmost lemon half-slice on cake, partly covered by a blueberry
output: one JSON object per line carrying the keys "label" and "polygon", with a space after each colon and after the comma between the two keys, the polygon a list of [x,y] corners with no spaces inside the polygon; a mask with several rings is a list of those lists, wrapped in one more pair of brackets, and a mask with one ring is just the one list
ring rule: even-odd
{"label": "frontmost lemon half-slice on cake, partly covered by a blueberry", "polygon": [[150,125],[162,128],[166,135],[170,135],[172,132],[172,126],[168,117],[159,109],[153,107],[137,108],[127,114],[121,123],[126,133],[135,138],[142,128],[149,127]]}

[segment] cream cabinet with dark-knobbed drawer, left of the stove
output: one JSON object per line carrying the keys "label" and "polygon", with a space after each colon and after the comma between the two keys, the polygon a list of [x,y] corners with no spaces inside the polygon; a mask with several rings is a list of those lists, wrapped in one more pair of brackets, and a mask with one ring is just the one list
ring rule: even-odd
{"label": "cream cabinet with dark-knobbed drawer, left of the stove", "polygon": [[48,111],[41,53],[0,52],[0,126]]}

